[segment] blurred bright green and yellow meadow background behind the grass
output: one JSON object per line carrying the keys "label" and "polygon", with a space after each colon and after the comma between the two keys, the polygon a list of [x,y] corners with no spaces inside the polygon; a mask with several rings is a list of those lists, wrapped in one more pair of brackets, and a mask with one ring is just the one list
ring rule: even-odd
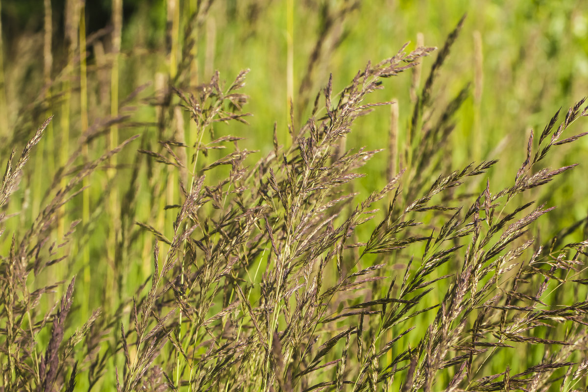
{"label": "blurred bright green and yellow meadow background behind the grass", "polygon": [[[129,113],[134,123],[121,127],[119,140],[138,132],[143,134],[143,140],[156,139],[156,108],[148,103],[156,96],[158,75],[169,73],[170,52],[174,49],[177,58],[183,56],[191,61],[185,83],[192,87],[208,81],[215,71],[220,72],[221,79],[231,80],[242,69],[251,70],[244,89],[250,97],[244,110],[253,113],[248,118],[249,125],[231,125],[227,129],[220,124],[215,126],[215,133],[244,136],[247,140],[243,146],[264,154],[272,148],[274,122],[278,125],[279,142],[289,143],[289,81],[295,126],[299,127],[308,118],[315,95],[326,85],[330,73],[333,90],[338,92],[368,61],[390,57],[409,41],[407,50],[415,48],[419,35],[426,46],[442,46],[464,14],[465,25],[433,91],[435,99],[447,102],[468,83],[471,86],[469,97],[457,113],[456,129],[447,149],[452,169],[473,160],[498,158],[497,171],[501,175],[492,178],[495,182],[502,179],[503,183],[492,185],[506,185],[516,173],[512,166],[520,165],[524,159],[529,130],[540,132],[557,109],[565,110],[588,91],[588,5],[582,1],[214,1],[201,5],[210,5],[208,14],[188,36],[190,16],[198,2],[180,1],[175,48],[171,48],[168,35],[168,19],[173,16],[168,15],[168,3],[122,2],[118,102],[138,86],[147,85],[138,98],[133,98],[131,105],[135,109]],[[88,126],[82,124],[81,118],[81,62],[79,35],[76,36],[80,19],[71,15],[75,14],[71,9],[79,11],[81,4],[73,0],[1,3],[4,84],[0,91],[0,156],[7,158],[12,147],[24,145],[46,116],[55,115],[40,145],[41,151],[36,151],[34,163],[25,170],[25,182],[31,186],[22,187],[20,202],[15,200],[11,204],[14,211],[21,211],[18,218],[9,221],[13,227],[26,226],[39,212],[42,200],[48,197],[51,179],[66,162],[62,157],[64,149],[71,153],[76,146],[81,148],[78,138],[84,126]],[[92,125],[112,112],[111,72],[116,53],[112,47],[111,2],[91,1],[85,7],[87,115],[88,124]],[[45,48],[48,9],[52,55],[49,73]],[[72,28],[74,33],[68,35]],[[182,43],[189,39],[194,39],[196,45],[192,52],[182,54]],[[372,95],[374,101],[397,100],[400,146],[406,142],[412,114],[411,86],[422,86],[435,56],[433,52],[424,59],[419,79],[411,76],[410,71],[405,72],[387,80],[386,88]],[[193,143],[186,116],[185,120],[186,141]],[[359,120],[348,135],[347,147],[386,148],[389,127],[390,110],[377,108],[367,119]],[[113,212],[108,203],[105,206],[100,202],[106,197],[103,189],[118,189],[116,197],[124,195],[132,175],[129,165],[135,159],[136,149],[141,147],[139,144],[134,142],[118,158],[115,180],[109,180],[106,173],[96,173],[88,184],[92,220],[83,222],[82,232],[87,239],[84,246],[96,260],[112,245],[108,238]],[[89,146],[91,158],[93,153],[105,150],[108,136],[95,138]],[[580,140],[573,148],[563,146],[559,152],[557,162],[549,162],[550,165],[582,163],[588,152],[588,140]],[[362,192],[371,192],[385,183],[387,159],[387,153],[382,152],[366,166],[368,176],[362,179]],[[139,184],[148,183],[148,176],[142,172]],[[567,178],[552,187],[549,195],[537,195],[556,200],[559,209],[566,211],[553,224],[545,223],[547,232],[586,215],[583,169],[574,170]],[[154,199],[144,197],[136,202],[141,218],[138,220],[153,223],[152,218],[157,215],[151,208]],[[81,197],[77,200],[81,205]],[[171,222],[173,214],[167,212],[165,221]],[[66,222],[81,218],[81,210],[65,213]],[[64,223],[64,227],[68,224]],[[158,230],[170,232],[171,227]],[[143,234],[137,235],[139,242],[145,241]],[[151,239],[139,249],[149,243]],[[82,253],[77,257],[82,257]],[[111,267],[115,263],[113,257],[110,254]],[[71,263],[73,270],[81,268],[79,261]],[[91,268],[97,274],[105,274],[105,269],[98,265],[96,261]],[[139,268],[138,273],[146,278],[149,271]],[[92,293],[95,297],[91,308],[100,303],[96,296],[101,292]]]}

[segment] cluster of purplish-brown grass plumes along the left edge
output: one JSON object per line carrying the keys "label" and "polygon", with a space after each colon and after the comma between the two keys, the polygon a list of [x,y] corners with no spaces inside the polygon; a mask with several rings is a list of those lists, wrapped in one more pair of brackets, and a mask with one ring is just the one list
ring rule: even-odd
{"label": "cluster of purplish-brown grass plumes along the left edge", "polygon": [[[10,205],[11,196],[18,189],[24,175],[25,164],[51,119],[52,117],[47,119],[38,128],[16,161],[13,150],[2,180],[0,203],[3,207]],[[91,330],[99,317],[99,310],[82,323],[80,329],[72,334],[68,332],[66,320],[72,310],[75,279],[69,283],[61,301],[48,310],[44,310],[42,304],[51,302],[51,293],[61,286],[61,282],[52,283],[49,271],[68,257],[69,242],[74,237],[74,228],[79,222],[74,221],[64,237],[58,237],[59,242],[52,240],[55,237],[60,207],[81,192],[76,186],[85,177],[121,148],[119,146],[79,169],[66,186],[58,189],[54,198],[46,202],[46,206],[28,230],[12,233],[9,254],[2,256],[4,277],[0,283],[4,308],[0,319],[6,331],[0,355],[4,371],[2,385],[6,390],[73,390],[76,375],[86,370],[86,364],[78,366],[76,357],[84,355],[87,360],[92,360],[96,356],[95,352],[86,351],[85,347],[79,349],[78,345],[84,336],[94,335]],[[1,232],[5,232],[5,220],[9,218],[10,216],[2,213]],[[60,248],[65,249],[65,255],[58,254],[61,253]],[[46,277],[50,278],[49,282]],[[47,336],[48,340],[40,340],[42,336]]]}

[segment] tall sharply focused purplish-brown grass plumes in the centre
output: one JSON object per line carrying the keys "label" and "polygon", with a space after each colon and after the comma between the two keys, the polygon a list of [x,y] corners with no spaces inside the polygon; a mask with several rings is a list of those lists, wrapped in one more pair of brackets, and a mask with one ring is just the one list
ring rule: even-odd
{"label": "tall sharply focused purplish-brown grass plumes in the centre", "polygon": [[[216,169],[216,167],[222,165],[231,166],[228,180],[212,187],[203,186],[203,177],[200,177],[197,189],[192,190],[190,193],[185,193],[185,202],[173,224],[173,227],[175,227],[174,239],[170,240],[171,247],[166,256],[166,264],[170,263],[170,267],[163,267],[163,270],[168,270],[169,272],[176,271],[172,274],[175,278],[171,279],[166,287],[173,289],[176,304],[182,309],[182,314],[187,319],[185,322],[188,323],[184,327],[184,330],[188,331],[188,333],[178,334],[177,336],[174,334],[173,339],[172,337],[170,339],[177,339],[173,343],[174,346],[183,346],[184,348],[181,351],[192,357],[191,360],[186,357],[186,364],[183,365],[182,369],[176,368],[175,374],[180,376],[185,374],[186,365],[188,365],[190,374],[188,382],[191,384],[192,389],[199,390],[199,388],[209,385],[211,381],[207,380],[211,380],[209,377],[212,377],[212,374],[208,373],[204,366],[219,355],[221,358],[228,355],[229,357],[226,357],[226,360],[229,363],[238,363],[243,360],[255,362],[263,360],[265,365],[258,366],[260,373],[255,377],[250,377],[250,382],[254,385],[259,385],[259,387],[269,387],[275,382],[278,382],[278,384],[298,383],[298,380],[296,380],[296,378],[300,378],[300,376],[296,376],[299,373],[299,370],[296,370],[298,366],[291,363],[293,354],[284,355],[288,353],[288,350],[293,349],[293,342],[307,339],[306,336],[310,331],[308,328],[313,327],[313,324],[306,323],[307,320],[305,319],[310,317],[310,321],[315,320],[314,325],[316,326],[316,321],[318,321],[320,314],[320,312],[318,313],[320,307],[312,304],[312,301],[316,300],[318,292],[314,292],[312,286],[309,286],[313,263],[305,261],[305,258],[308,257],[309,261],[317,260],[322,253],[336,244],[338,244],[336,247],[339,250],[337,252],[330,251],[330,256],[327,256],[326,260],[335,257],[336,254],[341,254],[345,240],[348,237],[346,233],[358,223],[363,223],[363,211],[373,202],[382,199],[393,186],[393,184],[390,184],[382,192],[372,195],[368,201],[356,209],[352,217],[342,226],[335,229],[332,227],[335,216],[330,218],[326,224],[320,222],[320,219],[336,203],[345,202],[350,196],[338,197],[333,202],[330,202],[326,196],[336,187],[340,187],[358,177],[358,175],[351,173],[350,170],[362,166],[375,152],[360,150],[358,153],[346,153],[335,160],[330,167],[325,165],[333,151],[333,146],[336,146],[340,136],[349,132],[353,120],[359,115],[369,112],[373,106],[380,105],[369,103],[365,105],[362,103],[368,93],[380,88],[379,78],[393,76],[410,68],[417,59],[426,55],[430,50],[420,48],[409,54],[400,51],[395,57],[387,59],[376,66],[368,65],[365,71],[359,72],[353,83],[345,89],[339,98],[338,105],[335,107],[330,106],[332,93],[331,87],[328,85],[325,89],[328,116],[320,119],[320,130],[317,129],[314,120],[311,119],[308,125],[303,127],[298,138],[295,139],[295,145],[292,148],[282,152],[281,156],[276,152],[271,153],[268,158],[261,160],[252,172],[248,173],[248,170],[242,167],[243,159],[250,152],[240,150],[236,144],[235,152],[202,167],[201,170],[205,171]],[[208,86],[203,86],[199,97],[186,95],[178,91],[182,105],[191,113],[199,129],[203,130],[219,120],[242,120],[243,115],[226,112],[222,108],[223,102],[228,102],[229,108],[232,106],[235,109],[240,109],[242,102],[245,102],[245,96],[233,92],[242,86],[244,76],[245,73],[241,73],[236,81],[229,86],[226,93],[220,88],[218,74],[213,76]],[[308,138],[303,136],[307,132]],[[209,146],[215,146],[226,141],[236,143],[238,139],[217,139],[213,140]],[[178,145],[178,148],[184,147]],[[192,176],[194,179],[198,179],[196,171],[198,151],[203,150],[203,152],[206,152],[209,147],[198,143],[196,148],[195,162],[192,163],[194,167]],[[154,152],[145,152],[161,163],[186,166],[178,161],[178,155],[175,155],[172,150],[168,149],[168,154],[171,155],[170,158]],[[265,182],[263,175],[268,173],[268,166],[270,165],[281,166],[280,171],[285,173],[285,176],[276,177],[276,173],[270,169],[270,176]],[[296,177],[299,177],[299,179]],[[251,180],[258,182],[258,185],[247,185]],[[397,178],[393,183],[396,181]],[[249,192],[246,192],[246,190],[249,190]],[[273,203],[272,199],[274,197],[280,200],[279,205]],[[206,204],[211,205],[213,209],[205,208]],[[256,207],[253,208],[246,207],[255,205]],[[211,216],[210,214],[215,210],[218,212]],[[262,214],[265,215],[265,225],[259,222]],[[282,214],[284,223],[280,223],[280,215]],[[183,225],[182,222],[185,222],[186,219],[191,222],[186,221],[186,225]],[[186,231],[182,233],[181,230]],[[198,232],[201,232],[200,237],[195,236]],[[286,242],[283,240],[284,237]],[[250,241],[258,245],[243,248]],[[219,343],[218,350],[221,351],[217,351],[218,354],[211,351],[214,346],[209,346],[206,354],[199,361],[196,360],[195,349],[191,349],[193,352],[190,353],[189,347],[185,346],[183,341],[193,341],[199,334],[204,333],[204,330],[202,330],[203,321],[206,320],[204,315],[211,310],[212,300],[222,293],[220,290],[222,287],[220,286],[221,280],[224,279],[223,277],[226,274],[236,272],[233,272],[232,266],[238,265],[236,264],[238,260],[259,259],[259,255],[265,253],[263,243],[269,243],[272,253],[268,255],[266,272],[260,286],[261,307],[253,306],[250,300],[247,299],[250,296],[250,287],[246,286],[246,290],[240,287],[238,282],[242,278],[239,278],[239,280],[229,279],[227,282],[228,287],[232,287],[230,297],[235,297],[244,306],[242,308],[244,313],[242,316],[238,316],[238,319],[232,321],[232,324],[239,325],[241,333],[245,333],[245,326],[249,324],[253,327],[253,334],[240,337],[237,341],[228,341],[226,344],[220,345]],[[280,243],[280,245],[278,246],[277,243]],[[181,244],[183,244],[183,248],[180,246]],[[196,254],[198,249],[203,252],[202,254],[206,259],[202,265],[196,260],[192,261],[192,255]],[[182,253],[178,253],[181,250]],[[188,258],[186,259],[186,257]],[[172,261],[178,259],[188,262],[181,269],[184,272],[180,274],[178,274],[181,272],[178,270],[179,267],[172,266]],[[356,276],[367,274],[369,271],[360,272]],[[290,274],[293,274],[293,277],[290,277]],[[163,277],[164,274],[160,276]],[[304,276],[307,278],[303,280]],[[195,285],[196,283],[198,283],[198,286]],[[320,283],[317,282],[316,284]],[[153,287],[155,289],[152,289],[148,296],[149,305],[146,308],[142,307],[142,309],[151,309],[152,304],[155,304],[156,301],[165,301],[166,289],[163,289],[161,292],[162,297],[158,299],[159,297],[153,291],[157,287],[155,282]],[[284,307],[280,304],[282,300],[287,301],[294,294],[299,298],[298,305],[295,308],[290,309],[289,306]],[[201,300],[191,303],[189,299],[195,296],[196,298],[201,298]],[[229,304],[226,301],[223,302],[226,305]],[[303,310],[308,306],[310,306],[308,310]],[[233,304],[231,307],[234,309],[235,305]],[[295,313],[291,313],[292,311]],[[300,311],[306,314],[302,319],[298,315]],[[143,311],[143,314],[143,317],[146,317],[149,312],[145,313]],[[278,320],[281,317],[280,314],[283,314],[283,317],[286,317],[290,324],[286,329],[289,333],[281,336],[276,333]],[[206,325],[208,334],[218,328],[216,327],[218,325],[216,320],[223,321],[225,317],[213,316],[212,319],[207,317],[212,322],[212,324],[208,323]],[[262,323],[259,323],[259,317],[262,317]],[[142,330],[145,329],[145,322],[142,325],[143,327],[139,329],[139,334],[142,334]],[[243,344],[240,343],[241,341],[243,343],[248,341],[249,346],[253,344],[251,347],[255,354],[250,351],[251,349],[248,349],[245,354],[248,353],[249,356],[242,357],[245,354],[241,354],[242,349],[238,349]],[[255,349],[256,345],[259,345],[257,349]],[[280,348],[280,352],[278,352],[278,348]],[[262,352],[259,353],[259,350],[262,350]],[[300,361],[304,360],[308,354],[304,351],[298,351],[296,356],[300,357]],[[320,359],[320,357],[319,355],[317,359]],[[283,369],[280,374],[276,374],[275,370],[273,370],[274,368],[270,367],[269,364],[279,363],[280,361],[283,363]],[[287,366],[286,363],[288,363]],[[137,373],[135,368],[132,368],[132,371],[129,371],[128,374],[131,373]],[[175,383],[176,387],[180,384],[178,381]],[[123,388],[125,385],[131,385],[130,381],[125,381]]]}

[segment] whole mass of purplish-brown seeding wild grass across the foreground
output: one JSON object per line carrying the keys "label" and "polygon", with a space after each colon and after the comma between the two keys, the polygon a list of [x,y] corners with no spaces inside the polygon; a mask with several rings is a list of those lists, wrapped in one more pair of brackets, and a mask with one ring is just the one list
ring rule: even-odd
{"label": "whole mass of purplish-brown seeding wild grass across the foreground", "polygon": [[[186,36],[205,14],[196,16]],[[500,169],[506,186],[495,183],[496,159],[452,167],[449,136],[469,88],[436,100],[433,86],[462,25],[416,95],[409,143],[394,155],[399,170],[382,168],[387,184],[365,196],[354,183],[382,150],[346,149],[342,140],[360,116],[397,105],[370,94],[435,48],[405,45],[339,93],[329,78],[302,126],[289,104],[288,144],[276,124],[273,138],[266,132],[272,149],[257,160],[242,137],[217,127],[246,124],[248,71],[193,86],[189,63],[172,62],[161,89],[123,102],[155,108],[156,121],[131,122],[111,102],[57,171],[31,225],[6,230],[46,120],[18,159],[13,150],[0,188],[0,241],[9,249],[1,256],[2,390],[586,390],[586,220],[538,237],[536,222],[555,206],[533,199],[576,166],[545,165],[587,134],[570,128],[588,106],[580,100],[538,138],[531,132],[524,161]],[[184,45],[190,53],[194,43]],[[121,129],[107,132],[112,125]],[[112,145],[123,126],[140,135]],[[92,140],[109,146],[96,159]],[[132,159],[112,165],[123,149]],[[112,291],[87,315],[75,305],[87,290],[76,293],[79,277],[55,277],[75,270],[72,254],[94,226],[82,222],[83,236],[75,236],[78,220],[62,235],[59,227],[64,207],[74,209],[108,162],[103,194],[84,199],[82,211],[93,203],[112,218],[112,249],[84,256],[103,263],[110,280],[98,286],[88,265],[80,270],[85,284]],[[129,176],[124,192],[113,170],[119,181]],[[128,287],[136,266],[149,277]]]}

